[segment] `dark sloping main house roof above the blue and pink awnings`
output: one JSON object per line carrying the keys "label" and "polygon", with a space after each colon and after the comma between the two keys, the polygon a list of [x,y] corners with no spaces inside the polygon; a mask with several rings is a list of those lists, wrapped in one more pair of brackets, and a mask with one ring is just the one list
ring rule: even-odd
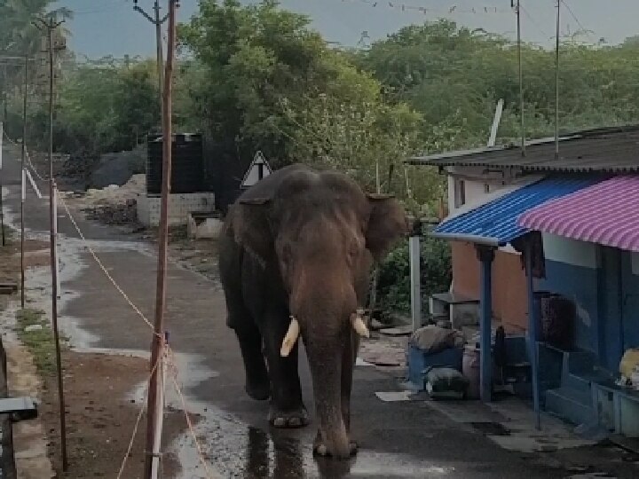
{"label": "dark sloping main house roof above the blue and pink awnings", "polygon": [[554,139],[544,138],[529,142],[525,156],[518,145],[504,145],[416,157],[408,162],[527,171],[637,172],[639,126],[586,130],[564,136],[560,138],[558,158],[555,158]]}

